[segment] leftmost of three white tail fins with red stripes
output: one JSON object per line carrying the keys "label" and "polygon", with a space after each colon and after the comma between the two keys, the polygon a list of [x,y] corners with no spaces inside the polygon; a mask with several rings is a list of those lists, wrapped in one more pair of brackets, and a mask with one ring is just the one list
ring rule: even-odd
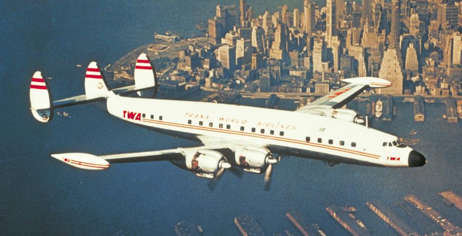
{"label": "leftmost of three white tail fins with red stripes", "polygon": [[40,71],[36,71],[32,76],[29,98],[32,115],[36,120],[46,123],[53,118],[51,93]]}

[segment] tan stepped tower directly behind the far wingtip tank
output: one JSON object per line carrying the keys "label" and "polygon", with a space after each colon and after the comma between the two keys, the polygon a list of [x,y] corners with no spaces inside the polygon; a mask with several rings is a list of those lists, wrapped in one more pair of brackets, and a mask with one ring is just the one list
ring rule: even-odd
{"label": "tan stepped tower directly behind the far wingtip tank", "polygon": [[379,77],[390,81],[392,86],[379,89],[379,94],[403,94],[403,72],[400,61],[401,56],[395,48],[389,47],[386,49],[380,65]]}

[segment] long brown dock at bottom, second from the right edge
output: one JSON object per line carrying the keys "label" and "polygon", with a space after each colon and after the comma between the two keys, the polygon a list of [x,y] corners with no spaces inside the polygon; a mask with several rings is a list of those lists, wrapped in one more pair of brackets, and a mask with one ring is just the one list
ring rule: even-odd
{"label": "long brown dock at bottom, second from the right edge", "polygon": [[455,235],[455,236],[462,236],[462,230],[449,222],[448,219],[443,218],[437,211],[431,208],[429,205],[423,203],[421,200],[417,198],[415,195],[408,195],[404,197],[406,202],[411,203],[414,205],[418,210],[420,210],[426,217],[430,220],[436,222],[443,230],[445,230],[447,234]]}

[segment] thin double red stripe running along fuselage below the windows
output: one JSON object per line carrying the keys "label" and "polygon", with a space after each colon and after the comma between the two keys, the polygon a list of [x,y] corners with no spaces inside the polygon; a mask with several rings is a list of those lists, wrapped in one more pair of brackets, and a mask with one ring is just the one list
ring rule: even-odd
{"label": "thin double red stripe running along fuselage below the windows", "polygon": [[355,155],[361,155],[361,156],[375,158],[375,159],[380,158],[379,155],[375,155],[375,154],[359,152],[359,151],[345,149],[345,148],[341,148],[341,147],[328,146],[328,145],[319,144],[319,143],[300,141],[300,140],[290,139],[290,138],[274,137],[274,136],[259,135],[259,134],[251,134],[251,133],[238,132],[238,131],[218,130],[218,129],[214,129],[214,128],[206,128],[206,127],[200,127],[200,126],[176,124],[176,123],[170,123],[170,122],[164,122],[164,121],[150,120],[150,119],[145,119],[145,118],[143,118],[143,121],[149,122],[149,123],[160,124],[160,125],[168,125],[168,126],[175,126],[175,127],[181,127],[181,128],[189,128],[189,129],[194,129],[194,130],[213,131],[213,132],[218,132],[218,133],[225,133],[225,134],[232,134],[232,135],[243,135],[243,136],[250,136],[250,137],[260,137],[260,138],[272,139],[272,140],[276,140],[276,141],[285,141],[285,142],[309,145],[309,146],[314,146],[314,147],[326,148],[326,149],[331,149],[331,150],[335,150],[335,151],[351,153],[351,154],[355,154]]}

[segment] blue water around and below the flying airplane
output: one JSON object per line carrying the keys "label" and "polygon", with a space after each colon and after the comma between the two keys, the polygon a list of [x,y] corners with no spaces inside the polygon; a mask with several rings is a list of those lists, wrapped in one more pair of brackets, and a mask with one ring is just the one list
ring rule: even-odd
{"label": "blue water around and below the flying airplane", "polygon": [[[223,4],[236,1],[218,1]],[[290,9],[301,9],[290,0]],[[278,1],[249,0],[254,12],[275,10]],[[207,181],[166,162],[113,165],[105,171],[83,171],[64,165],[50,153],[158,150],[195,143],[157,134],[107,115],[102,104],[66,109],[72,118],[56,116],[39,124],[29,111],[29,82],[35,70],[51,76],[55,98],[82,93],[84,68],[97,60],[115,62],[152,41],[154,32],[197,34],[195,24],[213,16],[217,1],[0,1],[0,105],[3,114],[0,156],[1,235],[174,235],[176,223],[200,224],[206,235],[237,235],[232,219],[250,214],[268,235],[297,230],[285,218],[299,209],[328,235],[346,231],[325,211],[330,204],[352,204],[357,217],[377,235],[393,235],[364,203],[377,199],[394,208],[414,193],[455,224],[461,212],[437,195],[462,195],[461,124],[441,118],[444,106],[427,105],[426,121],[415,124],[412,105],[400,104],[392,122],[375,128],[405,136],[419,131],[416,148],[429,163],[420,169],[379,169],[285,157],[275,166],[272,188],[263,191],[263,176],[224,174],[214,192]],[[402,212],[401,212],[402,213]],[[405,216],[405,215],[404,215]]]}

